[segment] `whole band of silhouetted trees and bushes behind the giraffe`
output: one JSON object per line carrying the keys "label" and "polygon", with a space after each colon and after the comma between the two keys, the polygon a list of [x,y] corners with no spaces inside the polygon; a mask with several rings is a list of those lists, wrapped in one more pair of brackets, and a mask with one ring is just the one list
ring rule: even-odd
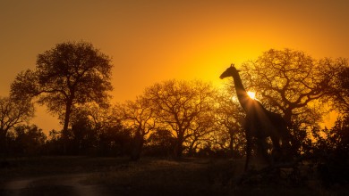
{"label": "whole band of silhouetted trees and bushes behind the giraffe", "polygon": [[[111,60],[85,42],[63,43],[38,55],[34,70],[14,79],[0,99],[3,154],[242,157],[243,110],[233,83],[217,89],[203,81],[168,80],[133,101],[111,104]],[[345,59],[315,60],[306,53],[269,50],[242,65],[243,83],[268,110],[285,118],[295,151],[348,154],[349,67]],[[63,129],[48,137],[24,126],[32,102],[45,104]],[[336,126],[319,127],[328,110]],[[347,160],[347,159],[346,159]]]}

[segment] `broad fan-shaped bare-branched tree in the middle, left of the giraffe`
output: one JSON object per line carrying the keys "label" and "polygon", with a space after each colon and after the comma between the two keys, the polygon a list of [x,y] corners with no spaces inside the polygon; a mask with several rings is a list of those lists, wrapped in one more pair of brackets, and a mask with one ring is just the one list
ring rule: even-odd
{"label": "broad fan-shaped bare-branched tree in the middle, left of the giraffe", "polygon": [[199,130],[200,116],[212,110],[213,94],[213,87],[201,81],[169,80],[146,89],[143,96],[155,110],[160,126],[172,131],[176,157],[182,156],[183,143]]}

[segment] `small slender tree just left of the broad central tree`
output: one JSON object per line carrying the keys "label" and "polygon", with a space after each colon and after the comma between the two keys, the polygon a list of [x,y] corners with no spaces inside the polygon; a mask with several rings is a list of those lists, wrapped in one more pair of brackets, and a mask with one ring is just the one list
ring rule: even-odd
{"label": "small slender tree just left of the broad central tree", "polygon": [[154,109],[147,99],[137,97],[135,101],[126,101],[123,104],[115,105],[115,110],[121,118],[123,125],[134,131],[132,160],[140,159],[145,136],[156,128],[156,117]]}

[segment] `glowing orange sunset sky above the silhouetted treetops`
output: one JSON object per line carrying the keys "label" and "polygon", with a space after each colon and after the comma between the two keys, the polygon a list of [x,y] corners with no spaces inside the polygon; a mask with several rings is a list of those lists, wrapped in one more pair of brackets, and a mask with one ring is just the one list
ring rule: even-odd
{"label": "glowing orange sunset sky above the silhouetted treetops", "polygon": [[[39,53],[87,41],[112,57],[112,102],[133,100],[168,79],[218,77],[269,49],[349,57],[346,0],[0,0],[0,96]],[[38,107],[30,123],[61,126]]]}

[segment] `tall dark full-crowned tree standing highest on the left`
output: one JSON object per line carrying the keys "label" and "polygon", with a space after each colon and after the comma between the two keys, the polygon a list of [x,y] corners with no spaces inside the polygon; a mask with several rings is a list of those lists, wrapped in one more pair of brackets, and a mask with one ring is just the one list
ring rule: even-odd
{"label": "tall dark full-crowned tree standing highest on the left", "polygon": [[34,70],[22,71],[11,85],[13,97],[38,97],[38,103],[58,114],[67,140],[69,119],[76,105],[104,104],[113,89],[111,60],[87,42],[67,42],[38,54]]}

